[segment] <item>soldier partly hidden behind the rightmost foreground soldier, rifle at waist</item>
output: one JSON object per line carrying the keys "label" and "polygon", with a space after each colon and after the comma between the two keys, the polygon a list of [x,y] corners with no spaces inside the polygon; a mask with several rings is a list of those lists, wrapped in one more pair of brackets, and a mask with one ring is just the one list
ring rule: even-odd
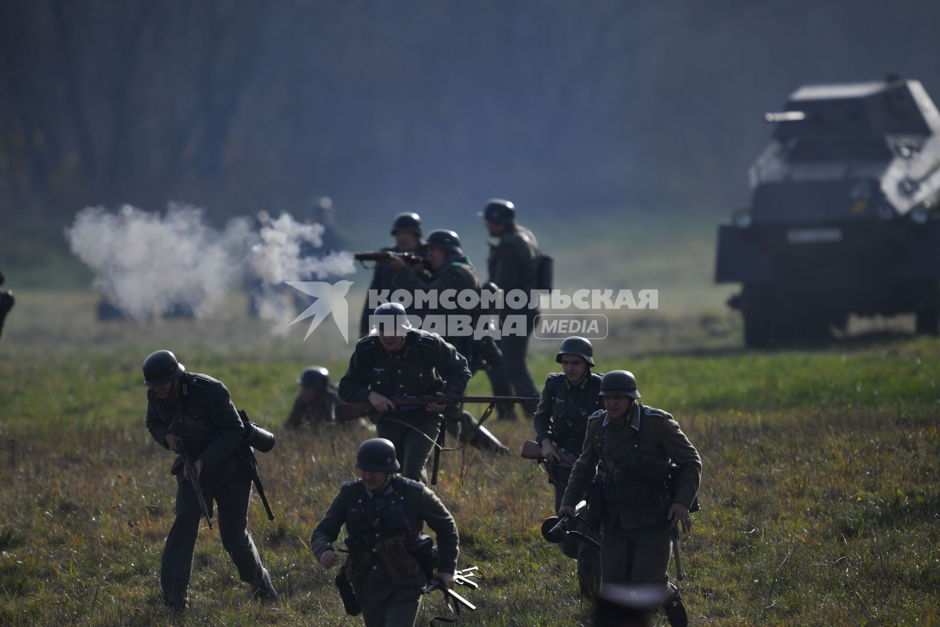
{"label": "soldier partly hidden behind the rightmost foreground soldier, rifle at waist", "polygon": [[[545,378],[532,425],[535,427],[535,441],[541,445],[541,456],[550,463],[549,481],[555,487],[557,512],[572,473],[571,462],[561,455],[565,454],[569,460],[577,460],[581,455],[587,418],[603,409],[603,402],[600,396],[601,375],[591,372],[594,347],[586,338],[566,337],[555,361],[564,371],[552,372]],[[587,528],[579,528],[578,531],[599,540]],[[601,584],[600,554],[572,537],[559,542],[559,546],[566,556],[578,560],[578,582],[582,593],[597,596]]]}

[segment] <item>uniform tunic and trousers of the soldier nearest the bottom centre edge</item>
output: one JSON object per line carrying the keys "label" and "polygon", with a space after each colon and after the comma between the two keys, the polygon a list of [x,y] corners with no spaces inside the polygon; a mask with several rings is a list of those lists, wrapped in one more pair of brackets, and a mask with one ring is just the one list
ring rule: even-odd
{"label": "uniform tunic and trousers of the soldier nearest the bottom centre edge", "polygon": [[[406,524],[394,529],[383,528],[376,501],[391,500],[403,509]],[[395,518],[391,516],[390,518]],[[339,537],[340,528],[346,525],[347,544],[351,553],[347,559],[356,559],[357,552],[370,553],[376,541],[390,533],[402,533],[405,545],[414,542],[424,523],[437,536],[440,564],[438,571],[453,574],[457,568],[458,532],[453,516],[441,500],[424,484],[393,476],[382,494],[368,492],[361,479],[347,481],[339,488],[329,509],[310,538],[313,555],[320,559],[324,551],[335,550],[333,542]],[[426,585],[424,573],[399,579],[387,572],[382,559],[368,559],[365,574],[358,581],[350,582],[356,599],[361,604],[367,627],[410,626],[415,623],[420,607],[421,588]]]}

